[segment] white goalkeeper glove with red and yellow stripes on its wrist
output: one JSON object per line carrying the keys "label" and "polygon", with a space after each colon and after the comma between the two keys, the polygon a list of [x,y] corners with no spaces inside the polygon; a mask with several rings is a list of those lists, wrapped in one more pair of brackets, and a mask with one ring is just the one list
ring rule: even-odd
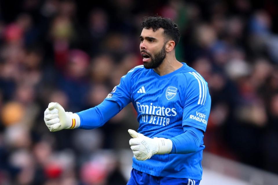
{"label": "white goalkeeper glove with red and yellow stripes on its wrist", "polygon": [[80,126],[80,117],[72,112],[65,112],[64,108],[56,102],[48,104],[44,111],[44,122],[51,132],[62,129],[74,129]]}

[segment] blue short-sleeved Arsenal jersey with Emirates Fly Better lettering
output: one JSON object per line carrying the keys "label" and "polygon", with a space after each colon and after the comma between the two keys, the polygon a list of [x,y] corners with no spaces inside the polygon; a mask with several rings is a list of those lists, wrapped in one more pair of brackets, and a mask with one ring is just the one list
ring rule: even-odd
{"label": "blue short-sleeved Arsenal jersey with Emirates Fly Better lettering", "polygon": [[[143,65],[136,66],[121,78],[106,100],[117,102],[120,109],[132,102],[138,113],[138,132],[150,138],[172,138],[184,133],[185,125],[205,132],[211,107],[207,82],[182,64],[164,76]],[[203,144],[195,153],[153,155],[145,161],[133,157],[132,167],[154,176],[201,180]]]}

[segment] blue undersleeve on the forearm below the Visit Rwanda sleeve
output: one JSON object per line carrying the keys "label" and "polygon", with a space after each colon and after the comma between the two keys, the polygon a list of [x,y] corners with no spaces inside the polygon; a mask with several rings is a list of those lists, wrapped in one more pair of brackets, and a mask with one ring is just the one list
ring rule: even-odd
{"label": "blue undersleeve on the forearm below the Visit Rwanda sleeve", "polygon": [[170,153],[186,154],[196,152],[203,140],[203,132],[200,129],[184,126],[185,132],[173,138],[172,151]]}

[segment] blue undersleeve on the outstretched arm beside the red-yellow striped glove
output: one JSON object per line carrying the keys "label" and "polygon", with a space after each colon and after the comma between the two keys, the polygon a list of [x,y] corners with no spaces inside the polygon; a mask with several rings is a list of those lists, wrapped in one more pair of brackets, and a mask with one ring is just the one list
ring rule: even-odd
{"label": "blue undersleeve on the outstretched arm beside the red-yellow striped glove", "polygon": [[98,106],[77,112],[80,117],[81,129],[95,129],[104,125],[109,119],[120,112],[118,103],[104,100]]}

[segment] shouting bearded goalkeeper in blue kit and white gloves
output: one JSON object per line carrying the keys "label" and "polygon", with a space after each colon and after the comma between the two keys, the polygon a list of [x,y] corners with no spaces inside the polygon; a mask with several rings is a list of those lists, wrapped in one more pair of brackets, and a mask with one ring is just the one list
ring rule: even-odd
{"label": "shouting bearded goalkeeper in blue kit and white gloves", "polygon": [[202,179],[204,132],[211,97],[207,82],[175,58],[178,26],[160,16],[144,17],[140,35],[143,65],[122,76],[102,103],[78,113],[49,103],[45,124],[61,129],[95,129],[132,102],[139,122],[129,129],[133,169],[127,184],[197,185]]}

